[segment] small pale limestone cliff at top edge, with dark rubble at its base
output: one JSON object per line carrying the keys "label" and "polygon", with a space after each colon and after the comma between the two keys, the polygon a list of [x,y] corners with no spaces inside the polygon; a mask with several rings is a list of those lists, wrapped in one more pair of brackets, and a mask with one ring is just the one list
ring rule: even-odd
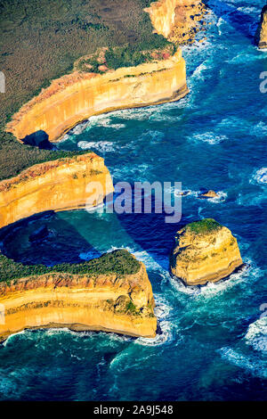
{"label": "small pale limestone cliff at top edge, with dark rubble at its base", "polygon": [[[145,9],[156,32],[178,44],[190,43],[206,13],[201,0],[158,0]],[[204,22],[203,22],[204,24]]]}

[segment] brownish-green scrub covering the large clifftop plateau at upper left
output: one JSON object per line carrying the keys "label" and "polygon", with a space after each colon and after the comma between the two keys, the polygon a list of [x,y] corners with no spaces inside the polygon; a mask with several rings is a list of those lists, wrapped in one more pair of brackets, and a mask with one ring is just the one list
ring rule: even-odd
{"label": "brownish-green scrub covering the large clifftop plateau at upper left", "polygon": [[[140,51],[171,45],[153,33],[143,9],[150,0],[3,0],[0,2],[0,70],[6,80],[0,101],[0,180],[61,152],[20,144],[4,126],[51,80],[73,70],[78,58],[108,47],[122,49],[124,65],[145,59]],[[116,55],[116,54],[115,54]],[[114,56],[117,65],[119,57]],[[123,62],[122,62],[123,63]],[[77,152],[76,152],[77,153]],[[63,157],[71,157],[73,153]]]}

